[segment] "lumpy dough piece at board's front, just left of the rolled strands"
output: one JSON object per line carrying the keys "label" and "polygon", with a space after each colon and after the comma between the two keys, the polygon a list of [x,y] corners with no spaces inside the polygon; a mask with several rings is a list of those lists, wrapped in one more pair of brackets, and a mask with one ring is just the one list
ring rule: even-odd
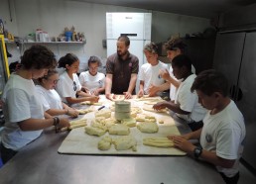
{"label": "lumpy dough piece at board's front, just left of the rolled strands", "polygon": [[137,141],[131,136],[124,136],[119,138],[112,138],[112,142],[115,145],[116,150],[127,150],[132,148],[133,151],[137,150]]}

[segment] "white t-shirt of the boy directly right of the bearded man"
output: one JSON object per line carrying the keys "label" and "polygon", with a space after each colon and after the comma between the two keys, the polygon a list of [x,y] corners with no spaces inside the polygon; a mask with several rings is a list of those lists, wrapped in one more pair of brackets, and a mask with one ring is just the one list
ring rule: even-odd
{"label": "white t-shirt of the boy directly right of the bearded man", "polygon": [[140,72],[139,72],[139,80],[144,81],[144,94],[149,94],[149,87],[151,84],[155,86],[159,86],[165,83],[165,79],[163,79],[159,75],[160,69],[168,69],[168,65],[159,61],[157,65],[151,65],[150,63],[142,64]]}

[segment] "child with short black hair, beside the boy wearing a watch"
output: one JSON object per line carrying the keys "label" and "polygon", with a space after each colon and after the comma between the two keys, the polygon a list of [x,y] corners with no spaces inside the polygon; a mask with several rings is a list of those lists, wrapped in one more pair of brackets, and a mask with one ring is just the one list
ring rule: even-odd
{"label": "child with short black hair, beside the boy wearing a watch", "polygon": [[192,131],[196,131],[203,126],[202,119],[206,110],[198,103],[198,96],[191,91],[195,74],[192,73],[192,61],[185,55],[177,55],[172,61],[174,75],[181,80],[177,90],[175,102],[160,102],[153,106],[156,110],[169,108],[176,115],[185,120]]}

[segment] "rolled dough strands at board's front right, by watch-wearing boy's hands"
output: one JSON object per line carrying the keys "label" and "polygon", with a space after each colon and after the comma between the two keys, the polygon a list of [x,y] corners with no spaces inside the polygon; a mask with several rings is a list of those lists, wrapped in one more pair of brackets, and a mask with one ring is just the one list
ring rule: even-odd
{"label": "rolled dough strands at board's front right, by watch-wearing boy's hands", "polygon": [[174,142],[169,138],[143,138],[143,144],[156,147],[173,147]]}

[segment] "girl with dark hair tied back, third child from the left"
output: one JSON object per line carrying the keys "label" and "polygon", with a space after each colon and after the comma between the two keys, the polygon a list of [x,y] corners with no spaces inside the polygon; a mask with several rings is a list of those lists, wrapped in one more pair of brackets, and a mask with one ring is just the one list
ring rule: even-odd
{"label": "girl with dark hair tied back, third child from the left", "polygon": [[[59,67],[65,68],[57,84],[57,91],[64,103],[76,104],[83,101],[98,102],[99,97],[81,91],[81,85],[76,74],[79,69],[79,59],[76,55],[66,53],[60,58]],[[76,98],[76,95],[79,98]]]}

